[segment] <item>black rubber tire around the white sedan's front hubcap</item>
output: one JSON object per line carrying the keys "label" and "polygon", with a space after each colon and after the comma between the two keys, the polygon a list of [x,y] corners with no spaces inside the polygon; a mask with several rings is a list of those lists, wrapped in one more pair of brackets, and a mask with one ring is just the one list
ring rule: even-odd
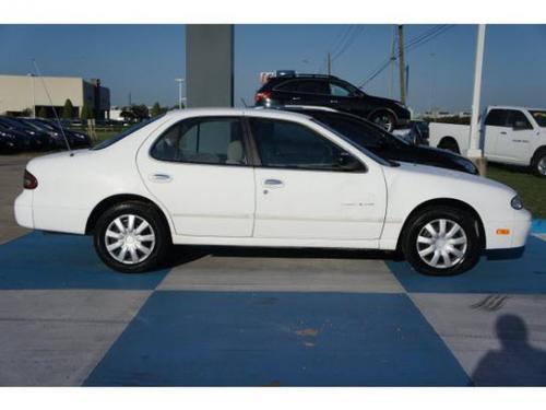
{"label": "black rubber tire around the white sedan's front hubcap", "polygon": [[[424,257],[419,256],[419,247],[427,247],[428,244],[424,245],[418,243],[417,237],[419,234],[423,234],[427,224],[434,224],[436,223],[434,221],[439,220],[447,220],[456,223],[464,232],[464,238],[466,239],[464,251],[462,248],[458,248],[459,251],[463,251],[463,256],[461,256],[460,259],[454,258],[456,263],[451,267],[430,266],[424,260]],[[454,225],[450,225],[448,222],[448,226]],[[462,234],[460,234],[459,237],[455,237],[455,239],[461,237],[463,237]],[[462,247],[463,245],[460,246]],[[417,214],[411,216],[411,220],[404,229],[401,248],[405,259],[417,272],[430,276],[453,276],[472,269],[478,262],[479,256],[482,255],[483,241],[480,238],[478,221],[476,221],[472,213],[454,207],[441,206],[424,209]],[[420,250],[424,249],[422,248]],[[435,251],[436,250],[432,251],[432,256]],[[440,259],[442,259],[443,265],[447,265],[442,256],[440,256]]]}

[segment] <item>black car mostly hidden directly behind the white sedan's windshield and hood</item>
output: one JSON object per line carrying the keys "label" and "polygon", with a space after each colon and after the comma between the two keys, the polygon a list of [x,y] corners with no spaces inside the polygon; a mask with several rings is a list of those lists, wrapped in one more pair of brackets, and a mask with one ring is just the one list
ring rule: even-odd
{"label": "black car mostly hidden directly behind the white sedan's windshield and hood", "polygon": [[373,122],[352,114],[330,108],[306,106],[287,106],[278,109],[308,115],[351,139],[354,143],[391,161],[403,161],[478,174],[478,169],[472,161],[464,156],[444,150],[416,145],[387,132]]}

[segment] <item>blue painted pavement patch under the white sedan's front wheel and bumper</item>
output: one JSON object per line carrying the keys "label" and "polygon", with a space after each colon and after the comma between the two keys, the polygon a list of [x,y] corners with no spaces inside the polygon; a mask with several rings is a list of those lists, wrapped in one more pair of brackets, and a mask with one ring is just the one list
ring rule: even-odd
{"label": "blue painted pavement patch under the white sedan's front wheel and bumper", "polygon": [[530,236],[520,259],[488,260],[454,277],[427,277],[407,262],[385,261],[407,292],[424,293],[546,293],[546,242]]}

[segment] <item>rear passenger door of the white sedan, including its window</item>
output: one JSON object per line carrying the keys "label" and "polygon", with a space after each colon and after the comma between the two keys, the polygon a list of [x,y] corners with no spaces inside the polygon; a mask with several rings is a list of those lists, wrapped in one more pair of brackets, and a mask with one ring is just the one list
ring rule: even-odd
{"label": "rear passenger door of the white sedan, including its window", "polygon": [[177,235],[247,237],[254,213],[247,152],[240,117],[194,117],[141,149],[138,166]]}

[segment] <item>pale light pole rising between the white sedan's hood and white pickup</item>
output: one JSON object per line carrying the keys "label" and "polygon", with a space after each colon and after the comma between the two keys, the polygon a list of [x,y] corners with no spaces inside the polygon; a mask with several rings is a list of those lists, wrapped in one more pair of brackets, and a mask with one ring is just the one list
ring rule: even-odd
{"label": "pale light pole rising between the white sedan's hood and white pickup", "polygon": [[487,171],[487,162],[479,148],[479,99],[482,94],[482,69],[484,65],[485,24],[479,24],[476,37],[476,61],[474,66],[474,91],[472,94],[472,118],[468,151],[466,155],[474,162],[480,175]]}

